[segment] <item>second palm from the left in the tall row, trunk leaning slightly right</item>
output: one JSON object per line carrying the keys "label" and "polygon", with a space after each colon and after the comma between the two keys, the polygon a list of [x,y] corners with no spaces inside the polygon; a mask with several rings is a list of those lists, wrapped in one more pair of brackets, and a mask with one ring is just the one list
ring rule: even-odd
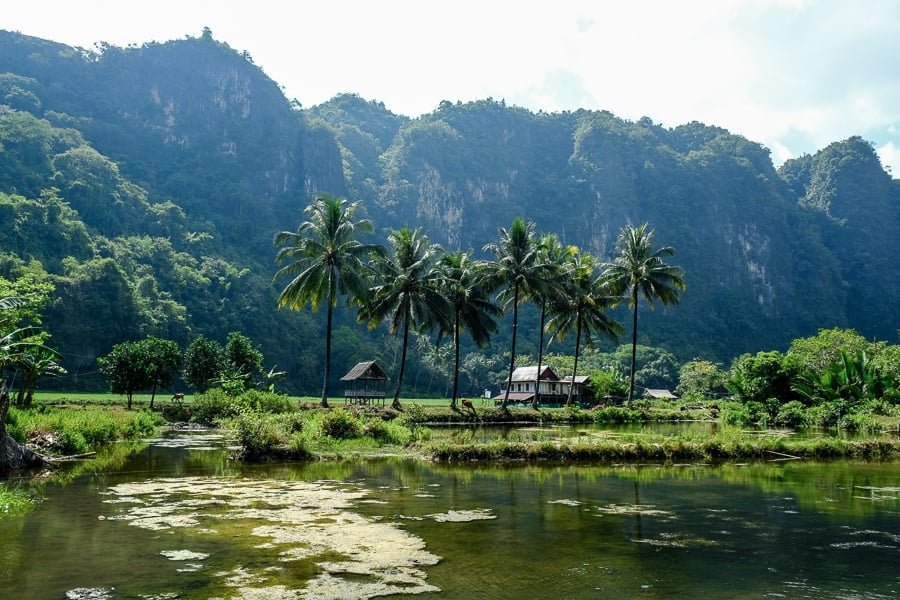
{"label": "second palm from the left in the tall row, trunk leaning slightly right", "polygon": [[409,328],[431,329],[445,326],[450,307],[440,293],[434,270],[439,248],[428,243],[428,238],[418,229],[404,227],[388,236],[392,256],[377,264],[380,283],[370,292],[369,302],[360,311],[360,320],[375,327],[384,319],[390,319],[391,333],[403,332],[400,355],[400,372],[391,406],[402,410],[400,387],[406,369],[406,350],[409,346]]}

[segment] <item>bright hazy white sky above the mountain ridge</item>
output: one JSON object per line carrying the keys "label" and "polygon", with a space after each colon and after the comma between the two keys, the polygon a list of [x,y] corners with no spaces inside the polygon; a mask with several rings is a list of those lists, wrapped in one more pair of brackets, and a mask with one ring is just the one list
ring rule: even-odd
{"label": "bright hazy white sky above the mountain ridge", "polygon": [[724,127],[780,164],[861,135],[900,177],[897,0],[28,0],[0,29],[93,48],[213,37],[303,106],[492,97]]}

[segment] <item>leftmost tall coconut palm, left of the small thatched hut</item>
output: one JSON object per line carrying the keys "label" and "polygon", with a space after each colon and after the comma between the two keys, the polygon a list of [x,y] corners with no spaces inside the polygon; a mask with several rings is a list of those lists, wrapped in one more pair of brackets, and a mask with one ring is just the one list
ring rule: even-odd
{"label": "leftmost tall coconut palm, left of the small thatched hut", "polygon": [[275,245],[284,246],[275,257],[286,263],[275,279],[290,277],[278,296],[278,307],[300,310],[306,304],[318,310],[327,305],[325,325],[325,373],[322,380],[322,406],[328,406],[328,378],[331,374],[331,328],[339,295],[348,303],[364,298],[368,290],[367,260],[384,252],[380,245],[364,244],[358,232],[372,231],[367,219],[356,219],[359,202],[322,195],[304,213],[307,221],[296,232],[282,231]]}

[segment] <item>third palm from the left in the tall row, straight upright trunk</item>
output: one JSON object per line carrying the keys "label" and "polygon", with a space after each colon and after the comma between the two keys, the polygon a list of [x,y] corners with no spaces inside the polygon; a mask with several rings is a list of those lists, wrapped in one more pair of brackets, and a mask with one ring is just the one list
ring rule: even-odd
{"label": "third palm from the left in the tall row, straight upright trunk", "polygon": [[484,263],[472,260],[470,252],[450,252],[438,260],[441,292],[453,306],[453,392],[450,408],[459,396],[459,337],[465,328],[479,347],[497,331],[500,308],[484,287]]}

